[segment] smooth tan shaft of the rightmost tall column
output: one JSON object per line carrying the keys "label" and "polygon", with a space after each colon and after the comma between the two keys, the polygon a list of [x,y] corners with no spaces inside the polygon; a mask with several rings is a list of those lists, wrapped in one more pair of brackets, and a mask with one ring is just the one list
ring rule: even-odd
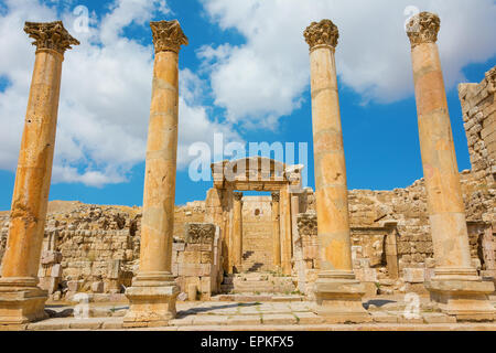
{"label": "smooth tan shaft of the rightmost tall column", "polygon": [[412,49],[412,62],[420,149],[436,266],[465,268],[475,275],[475,268],[471,265],[465,205],[438,45],[417,45]]}

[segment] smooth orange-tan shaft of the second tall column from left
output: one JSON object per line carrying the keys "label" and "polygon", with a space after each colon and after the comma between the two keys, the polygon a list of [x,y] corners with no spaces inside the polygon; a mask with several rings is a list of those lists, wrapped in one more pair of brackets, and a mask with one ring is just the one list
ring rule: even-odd
{"label": "smooth orange-tan shaft of the second tall column from left", "polygon": [[144,174],[140,274],[171,275],[177,152],[177,53],[160,52],[153,69]]}

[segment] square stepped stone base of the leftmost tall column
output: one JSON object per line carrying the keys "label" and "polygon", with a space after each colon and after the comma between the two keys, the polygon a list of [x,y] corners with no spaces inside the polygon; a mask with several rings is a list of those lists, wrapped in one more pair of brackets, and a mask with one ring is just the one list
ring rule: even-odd
{"label": "square stepped stone base of the leftmost tall column", "polygon": [[36,287],[36,278],[0,278],[0,329],[47,319],[46,290]]}

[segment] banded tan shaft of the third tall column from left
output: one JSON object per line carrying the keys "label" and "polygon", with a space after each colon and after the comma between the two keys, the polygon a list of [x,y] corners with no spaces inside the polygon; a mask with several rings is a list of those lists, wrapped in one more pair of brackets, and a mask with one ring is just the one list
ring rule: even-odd
{"label": "banded tan shaft of the third tall column from left", "polygon": [[321,269],[352,271],[348,190],[334,49],[314,49],[310,65]]}

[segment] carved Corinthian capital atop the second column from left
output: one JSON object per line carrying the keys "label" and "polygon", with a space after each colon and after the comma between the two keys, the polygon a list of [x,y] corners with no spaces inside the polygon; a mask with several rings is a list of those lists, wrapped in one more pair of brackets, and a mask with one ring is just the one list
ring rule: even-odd
{"label": "carved Corinthian capital atop the second column from left", "polygon": [[150,22],[150,26],[152,29],[155,53],[179,53],[181,45],[190,43],[177,20]]}

